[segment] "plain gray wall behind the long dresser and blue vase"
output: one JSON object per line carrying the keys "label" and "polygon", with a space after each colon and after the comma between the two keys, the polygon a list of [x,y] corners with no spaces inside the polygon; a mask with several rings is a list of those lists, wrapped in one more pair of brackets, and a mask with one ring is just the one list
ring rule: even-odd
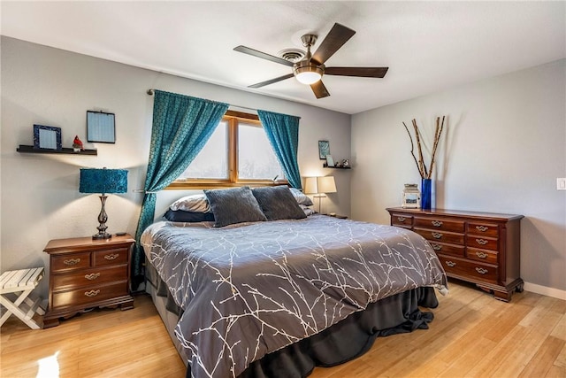
{"label": "plain gray wall behind the long dresser and blue vase", "polygon": [[564,297],[566,191],[556,178],[566,177],[566,60],[354,115],[354,218],[389,222],[403,184],[420,183],[402,122],[416,119],[431,141],[441,115],[437,207],[523,214],[525,289]]}

